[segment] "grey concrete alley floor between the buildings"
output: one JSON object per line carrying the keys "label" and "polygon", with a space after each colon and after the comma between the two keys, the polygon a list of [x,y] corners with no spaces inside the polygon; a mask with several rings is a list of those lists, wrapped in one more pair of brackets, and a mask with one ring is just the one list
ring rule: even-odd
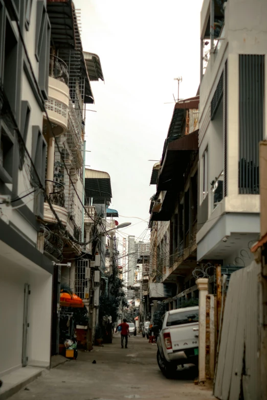
{"label": "grey concrete alley floor between the buildings", "polygon": [[[78,359],[50,370],[21,390],[12,400],[125,400],[127,398],[208,400],[211,389],[194,385],[197,370],[177,371],[168,380],[156,359],[157,345],[132,336],[122,349],[120,336],[113,344],[79,351]],[[96,360],[96,364],[92,362]]]}

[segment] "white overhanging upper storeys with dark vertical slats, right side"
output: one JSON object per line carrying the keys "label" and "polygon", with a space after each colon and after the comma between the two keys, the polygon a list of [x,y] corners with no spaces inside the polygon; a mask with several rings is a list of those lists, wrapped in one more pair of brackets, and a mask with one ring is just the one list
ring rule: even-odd
{"label": "white overhanging upper storeys with dark vertical slats, right side", "polygon": [[260,231],[267,3],[218,3],[201,11],[197,260],[247,266]]}

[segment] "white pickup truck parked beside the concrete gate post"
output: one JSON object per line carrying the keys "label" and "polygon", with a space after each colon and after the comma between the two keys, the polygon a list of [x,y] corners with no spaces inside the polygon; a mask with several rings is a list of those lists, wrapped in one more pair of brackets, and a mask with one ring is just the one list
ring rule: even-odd
{"label": "white pickup truck parked beside the concrete gate post", "polygon": [[157,361],[166,378],[177,365],[198,364],[198,307],[167,311],[157,340]]}

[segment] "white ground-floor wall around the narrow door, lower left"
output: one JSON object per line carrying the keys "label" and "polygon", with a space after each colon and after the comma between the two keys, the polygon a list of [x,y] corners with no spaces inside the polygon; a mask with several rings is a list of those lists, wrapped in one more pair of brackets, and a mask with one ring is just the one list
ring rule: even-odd
{"label": "white ground-floor wall around the narrow door, lower left", "polygon": [[[1,255],[0,280],[0,375],[21,366],[23,346],[24,285],[29,296],[28,364],[50,365],[52,275],[38,266],[19,265],[12,253]],[[21,257],[22,258],[22,257]],[[23,260],[24,263],[25,260]]]}

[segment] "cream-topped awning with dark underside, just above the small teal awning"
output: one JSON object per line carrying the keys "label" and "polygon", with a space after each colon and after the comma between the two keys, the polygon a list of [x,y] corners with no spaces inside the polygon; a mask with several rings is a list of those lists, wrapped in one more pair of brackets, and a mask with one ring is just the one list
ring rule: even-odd
{"label": "cream-topped awning with dark underside, just above the small teal awning", "polygon": [[112,198],[110,176],[107,172],[85,169],[85,195],[94,204],[105,204]]}

